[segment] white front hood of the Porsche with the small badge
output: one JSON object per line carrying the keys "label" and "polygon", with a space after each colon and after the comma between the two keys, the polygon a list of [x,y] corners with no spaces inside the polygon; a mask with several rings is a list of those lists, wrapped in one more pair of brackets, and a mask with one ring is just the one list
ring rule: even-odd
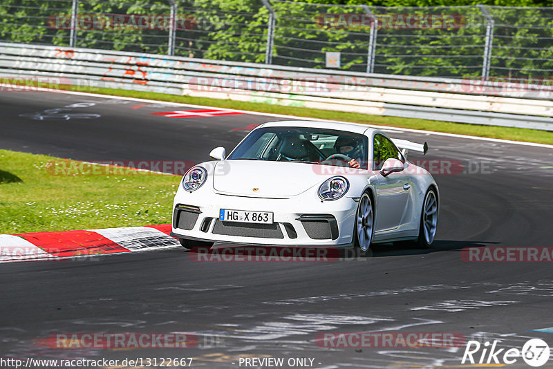
{"label": "white front hood of the Porsche with the small badge", "polygon": [[289,198],[326,179],[314,166],[319,164],[223,160],[214,168],[213,189],[235,196]]}

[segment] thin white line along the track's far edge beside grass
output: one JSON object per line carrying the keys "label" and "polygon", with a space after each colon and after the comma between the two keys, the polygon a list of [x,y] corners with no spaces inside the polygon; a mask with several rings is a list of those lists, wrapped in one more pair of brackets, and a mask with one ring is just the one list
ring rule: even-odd
{"label": "thin white line along the track's far edge beside grass", "polygon": [[[79,96],[89,96],[89,97],[103,97],[104,99],[114,99],[114,100],[128,100],[128,101],[135,101],[135,102],[147,102],[149,104],[165,104],[165,105],[169,105],[169,106],[187,106],[189,108],[221,109],[221,110],[226,110],[226,111],[238,111],[240,113],[245,113],[245,114],[250,114],[250,115],[263,115],[263,116],[266,116],[266,117],[291,118],[291,119],[295,119],[295,120],[315,120],[317,122],[336,122],[335,120],[326,120],[326,119],[318,119],[318,118],[310,118],[310,117],[297,117],[296,115],[261,113],[259,111],[225,109],[225,108],[220,108],[218,106],[182,104],[182,103],[178,103],[178,102],[165,102],[165,101],[162,101],[162,100],[139,99],[137,97],[124,97],[124,96],[115,96],[115,95],[102,95],[102,94],[98,94],[98,93],[82,93],[82,92],[77,92],[77,91],[53,90],[51,88],[37,88],[37,91],[54,92],[54,93],[66,93],[68,95],[79,95]],[[360,124],[360,123],[354,123],[354,124]],[[534,142],[501,140],[499,138],[485,138],[485,137],[477,137],[477,136],[470,136],[470,135],[458,135],[456,133],[422,131],[420,129],[408,129],[408,128],[400,128],[400,127],[394,127],[394,126],[378,126],[378,125],[374,125],[374,124],[360,124],[360,125],[369,126],[369,127],[376,128],[376,129],[394,129],[394,130],[401,130],[401,131],[413,132],[413,133],[426,133],[426,134],[441,135],[441,136],[446,136],[446,137],[466,138],[468,140],[499,142],[499,143],[503,143],[503,144],[517,144],[517,145],[523,145],[523,146],[534,146],[534,147],[543,147],[545,149],[553,149],[553,145],[537,144],[537,143],[534,143]]]}

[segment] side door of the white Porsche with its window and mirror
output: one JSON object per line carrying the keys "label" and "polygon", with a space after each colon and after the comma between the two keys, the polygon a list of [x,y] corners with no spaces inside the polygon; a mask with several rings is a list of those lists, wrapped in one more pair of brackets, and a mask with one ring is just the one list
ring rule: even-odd
{"label": "side door of the white Porsche with its window and mirror", "polygon": [[405,162],[393,142],[377,133],[373,139],[373,171],[378,171],[375,231],[399,227],[411,198],[411,180],[404,171],[391,173],[386,177],[379,173],[382,164],[389,158]]}

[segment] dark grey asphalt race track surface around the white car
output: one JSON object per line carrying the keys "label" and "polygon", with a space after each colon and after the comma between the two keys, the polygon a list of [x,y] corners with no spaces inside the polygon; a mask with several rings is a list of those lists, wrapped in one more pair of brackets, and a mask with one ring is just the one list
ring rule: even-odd
{"label": "dark grey asphalt race track surface around the white car", "polygon": [[[150,113],[196,108],[63,93],[2,93],[0,106],[0,149],[89,161],[200,162],[215,146],[232,149],[247,133],[241,128],[283,120],[165,117]],[[59,108],[65,110],[51,110]],[[451,368],[461,366],[464,343],[328,348],[318,334],[453,332],[498,339],[500,348],[520,349],[529,338],[553,346],[552,333],[534,331],[553,327],[552,263],[467,262],[460,251],[553,246],[553,150],[401,129],[388,134],[427,141],[429,158],[462,164],[458,173],[435,175],[442,202],[432,249],[383,245],[371,257],[326,263],[195,262],[181,249],[3,263],[2,356],[191,357],[193,368],[245,368],[246,357],[313,359],[293,368]],[[60,350],[40,343],[60,332],[188,332],[198,344]],[[508,367],[527,366],[518,358]]]}

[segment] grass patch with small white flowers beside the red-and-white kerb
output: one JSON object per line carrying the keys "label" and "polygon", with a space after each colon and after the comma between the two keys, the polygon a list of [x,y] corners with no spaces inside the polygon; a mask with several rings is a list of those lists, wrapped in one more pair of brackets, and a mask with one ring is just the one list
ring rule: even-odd
{"label": "grass patch with small white flowers beside the red-and-white kerb", "polygon": [[0,150],[0,234],[171,223],[179,179]]}

